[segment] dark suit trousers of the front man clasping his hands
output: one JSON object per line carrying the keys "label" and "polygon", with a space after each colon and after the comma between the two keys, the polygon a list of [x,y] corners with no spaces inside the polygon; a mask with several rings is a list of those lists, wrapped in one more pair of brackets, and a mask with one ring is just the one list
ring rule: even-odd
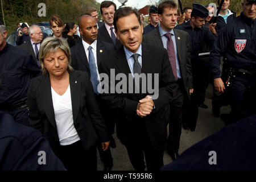
{"label": "dark suit trousers of the front man clasping his hands", "polygon": [[164,151],[157,151],[152,146],[146,124],[142,119],[140,121],[131,121],[130,124],[134,126],[134,129],[130,130],[130,138],[124,144],[134,169],[136,171],[144,171],[145,158],[147,171],[159,171],[163,166]]}

